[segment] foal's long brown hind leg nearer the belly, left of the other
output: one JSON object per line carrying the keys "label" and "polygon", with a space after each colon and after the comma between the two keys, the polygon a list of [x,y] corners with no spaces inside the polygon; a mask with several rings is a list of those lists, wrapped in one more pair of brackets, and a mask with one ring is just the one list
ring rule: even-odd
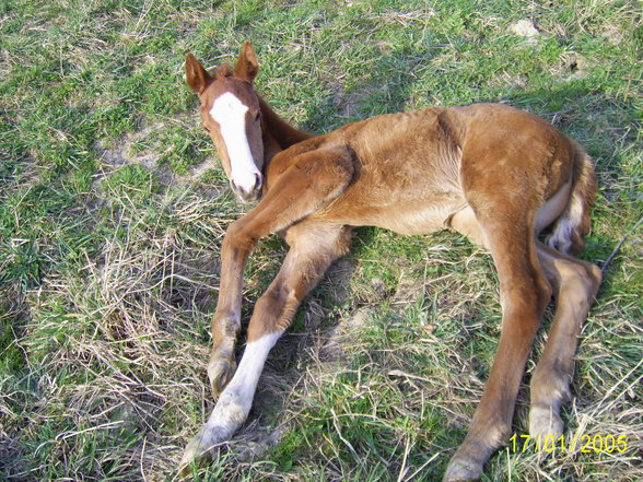
{"label": "foal's long brown hind leg nearer the belly, left of the other", "polygon": [[454,227],[491,250],[500,277],[502,334],[482,399],[444,482],[479,479],[491,454],[507,442],[525,363],[551,297],[527,214],[486,210],[476,223],[467,216],[457,219]]}

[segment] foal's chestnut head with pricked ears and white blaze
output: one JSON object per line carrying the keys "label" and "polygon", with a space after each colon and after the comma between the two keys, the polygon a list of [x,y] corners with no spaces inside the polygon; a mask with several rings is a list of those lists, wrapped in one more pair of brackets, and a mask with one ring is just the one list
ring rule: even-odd
{"label": "foal's chestnut head with pricked ears and white blaze", "polygon": [[223,64],[213,75],[191,54],[185,62],[187,84],[201,99],[201,120],[214,141],[232,190],[244,201],[261,195],[264,142],[261,111],[253,81],[259,71],[247,42],[234,67]]}

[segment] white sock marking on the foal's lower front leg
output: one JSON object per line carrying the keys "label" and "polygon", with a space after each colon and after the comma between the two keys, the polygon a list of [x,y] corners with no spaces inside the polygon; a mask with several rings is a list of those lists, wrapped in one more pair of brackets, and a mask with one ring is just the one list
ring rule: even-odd
{"label": "white sock marking on the foal's lower front leg", "polygon": [[232,380],[225,387],[206,425],[211,434],[211,443],[230,439],[234,432],[245,422],[253,405],[259,376],[268,353],[283,331],[265,334],[246,345],[246,350]]}

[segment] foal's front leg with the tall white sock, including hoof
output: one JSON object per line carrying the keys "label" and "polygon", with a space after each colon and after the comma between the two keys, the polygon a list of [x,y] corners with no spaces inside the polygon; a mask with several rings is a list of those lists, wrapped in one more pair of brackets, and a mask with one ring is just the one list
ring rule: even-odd
{"label": "foal's front leg with the tall white sock, including hoof", "polygon": [[328,266],[348,251],[350,228],[334,224],[300,223],[287,235],[285,261],[259,298],[248,327],[248,341],[232,380],[199,434],[186,447],[180,470],[212,459],[218,444],[229,440],[245,422],[268,353],[288,328],[306,293]]}

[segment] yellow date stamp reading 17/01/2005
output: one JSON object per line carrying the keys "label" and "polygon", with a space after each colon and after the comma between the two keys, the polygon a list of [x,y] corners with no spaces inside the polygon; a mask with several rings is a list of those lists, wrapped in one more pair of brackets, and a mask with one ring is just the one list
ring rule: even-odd
{"label": "yellow date stamp reading 17/01/2005", "polygon": [[575,452],[581,454],[623,454],[628,449],[628,435],[626,434],[583,434],[565,437],[553,435],[533,437],[531,435],[514,434],[510,438],[510,451],[526,452],[528,449],[552,454]]}

